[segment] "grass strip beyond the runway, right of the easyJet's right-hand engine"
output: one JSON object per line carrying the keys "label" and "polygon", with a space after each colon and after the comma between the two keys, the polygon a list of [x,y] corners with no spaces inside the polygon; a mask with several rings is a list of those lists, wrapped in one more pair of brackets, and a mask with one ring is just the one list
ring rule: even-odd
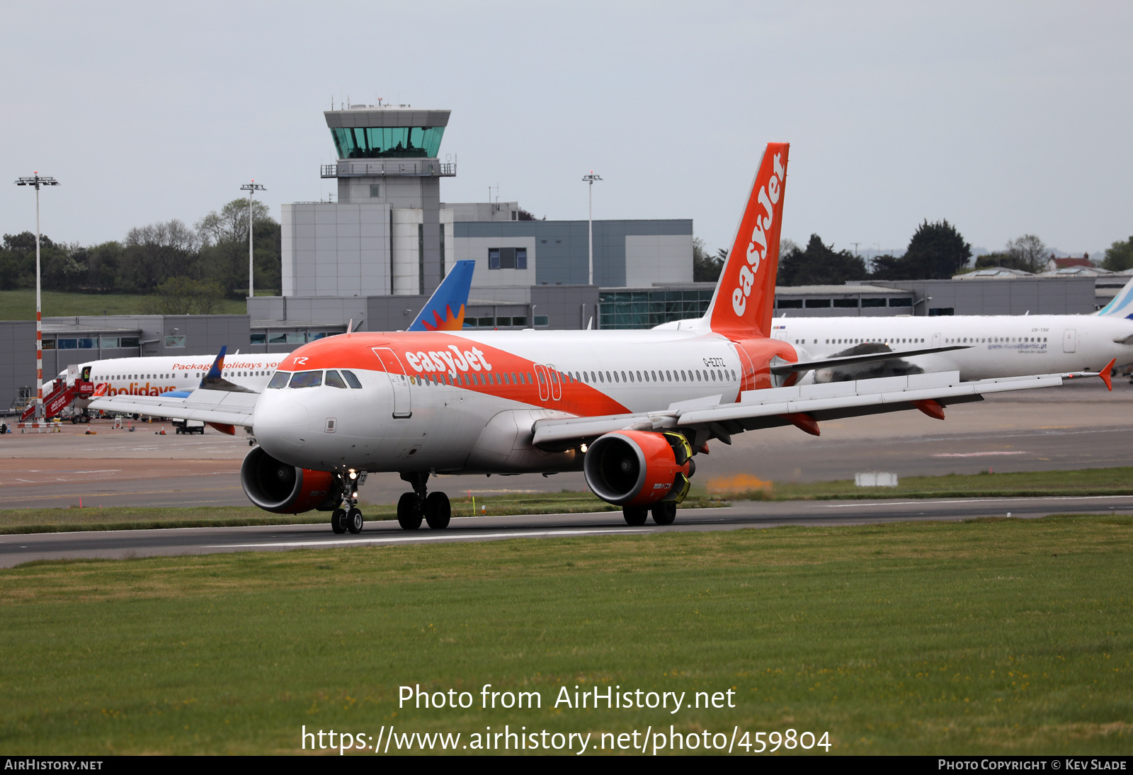
{"label": "grass strip beyond the runway, right of the easyJet's right-hand engine", "polygon": [[1029,497],[1045,495],[1133,495],[1133,468],[1083,468],[1074,471],[948,474],[908,476],[896,487],[858,487],[836,482],[751,482],[733,477],[708,483],[708,492],[729,500],[809,501],[883,497]]}

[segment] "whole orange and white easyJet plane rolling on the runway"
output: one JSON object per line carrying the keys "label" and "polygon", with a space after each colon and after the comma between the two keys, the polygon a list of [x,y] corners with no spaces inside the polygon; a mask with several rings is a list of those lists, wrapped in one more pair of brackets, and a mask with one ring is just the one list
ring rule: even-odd
{"label": "whole orange and white easyJet plane rolling on the runway", "polygon": [[252,426],[259,445],[240,470],[252,502],[331,511],[335,533],[363,529],[357,483],[372,471],[412,486],[398,503],[410,530],[423,518],[449,523],[448,496],[427,492],[431,474],[578,469],[630,525],[650,512],[668,525],[712,438],[781,425],[817,435],[825,419],[908,409],[943,419],[949,403],[1077,376],[962,383],[951,372],[796,386],[832,360],[768,335],[787,150],[767,146],[708,314],[691,329],[344,334],[297,349],[262,394],[202,386],[91,406]]}

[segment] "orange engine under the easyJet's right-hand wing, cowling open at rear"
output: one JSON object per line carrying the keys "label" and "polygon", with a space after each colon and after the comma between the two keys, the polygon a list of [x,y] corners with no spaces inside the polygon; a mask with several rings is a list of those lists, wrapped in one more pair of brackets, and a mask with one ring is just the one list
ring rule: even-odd
{"label": "orange engine under the easyJet's right-hand wing, cowling open at rear", "polygon": [[696,463],[688,438],[679,433],[615,431],[590,444],[582,471],[603,501],[646,506],[683,501]]}

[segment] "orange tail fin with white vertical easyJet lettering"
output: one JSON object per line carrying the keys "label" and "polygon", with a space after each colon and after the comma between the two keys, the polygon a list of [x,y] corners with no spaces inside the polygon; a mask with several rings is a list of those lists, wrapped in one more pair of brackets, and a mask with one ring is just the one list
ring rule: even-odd
{"label": "orange tail fin with white vertical easyJet lettering", "polygon": [[705,320],[733,339],[770,335],[789,143],[768,143]]}

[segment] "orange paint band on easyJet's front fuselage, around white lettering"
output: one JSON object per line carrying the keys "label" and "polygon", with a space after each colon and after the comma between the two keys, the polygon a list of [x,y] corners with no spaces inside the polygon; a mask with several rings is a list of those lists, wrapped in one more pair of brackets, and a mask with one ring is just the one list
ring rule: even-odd
{"label": "orange paint band on easyJet's front fuselage, around white lettering", "polygon": [[[506,350],[485,344],[480,341],[453,337],[441,332],[412,332],[412,333],[353,333],[349,337],[330,337],[321,339],[309,344],[304,344],[280,363],[280,369],[288,372],[304,372],[323,368],[358,368],[372,372],[384,372],[382,361],[374,355],[373,348],[387,347],[397,354],[406,368],[406,374],[420,380],[437,380],[449,377],[449,383],[463,390],[471,390],[478,393],[499,395],[509,401],[526,403],[531,407],[544,407],[559,411],[578,415],[581,417],[593,417],[598,415],[621,415],[630,410],[610,398],[596,386],[582,382],[577,382],[568,377],[564,373],[559,373],[560,399],[555,400],[551,385],[546,385],[544,392],[546,400],[539,398],[539,385],[533,383],[529,377],[536,381],[538,376],[535,371],[535,361],[522,358]],[[457,348],[454,352],[452,348]],[[478,351],[480,355],[474,352]],[[433,357],[435,354],[435,358]],[[411,355],[417,360],[420,368],[412,365]],[[428,371],[424,366],[420,355],[427,356]],[[450,364],[449,357],[452,358]],[[442,372],[436,360],[440,359],[444,366]],[[483,363],[487,363],[491,368],[485,368]],[[463,367],[461,367],[463,364]],[[546,368],[544,366],[544,368]],[[550,372],[550,369],[547,369]],[[512,381],[513,374],[522,373],[523,381],[516,384]],[[499,375],[506,374],[508,383],[500,384]],[[455,375],[455,378],[454,376]],[[492,383],[486,382],[486,376],[491,375]],[[548,376],[550,378],[550,376]]]}

